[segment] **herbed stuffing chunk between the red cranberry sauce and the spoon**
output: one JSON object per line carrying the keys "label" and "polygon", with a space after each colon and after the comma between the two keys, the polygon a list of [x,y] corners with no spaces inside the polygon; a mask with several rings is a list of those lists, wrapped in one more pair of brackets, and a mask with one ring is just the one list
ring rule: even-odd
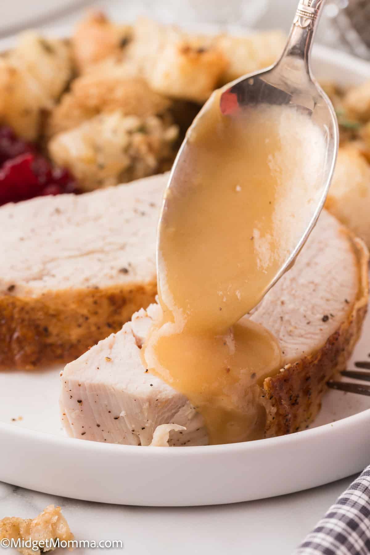
{"label": "herbed stuffing chunk between the red cranberry sauce and the spoon", "polygon": [[168,169],[177,138],[169,115],[140,118],[115,110],[55,135],[48,149],[53,162],[67,167],[88,191]]}

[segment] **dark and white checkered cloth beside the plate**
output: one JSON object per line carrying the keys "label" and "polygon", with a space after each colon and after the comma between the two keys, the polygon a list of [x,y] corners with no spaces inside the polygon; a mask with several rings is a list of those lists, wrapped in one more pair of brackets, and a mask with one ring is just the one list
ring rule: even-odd
{"label": "dark and white checkered cloth beside the plate", "polygon": [[370,466],[352,482],[294,555],[370,554]]}

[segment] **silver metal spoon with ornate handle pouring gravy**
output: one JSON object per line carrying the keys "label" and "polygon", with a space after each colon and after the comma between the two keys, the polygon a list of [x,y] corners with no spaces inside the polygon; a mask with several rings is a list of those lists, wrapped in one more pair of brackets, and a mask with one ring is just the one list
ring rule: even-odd
{"label": "silver metal spoon with ornate handle pouring gravy", "polygon": [[[326,200],[337,157],[339,132],[336,114],[327,95],[313,77],[310,67],[313,37],[315,36],[324,4],[325,0],[301,0],[298,4],[286,47],[278,62],[261,72],[245,75],[226,85],[220,98],[222,114],[234,112],[236,114],[242,108],[254,107],[257,104],[289,104],[301,112],[309,114],[312,121],[322,130],[323,137],[325,138],[325,168],[322,173],[320,194],[317,197],[318,201],[315,211],[305,232],[291,251],[290,256],[285,260],[285,263],[281,265],[267,290],[294,263],[297,254],[315,226]],[[200,114],[202,111],[203,109]],[[191,125],[190,133],[192,128],[197,124],[197,119],[199,118],[197,117]],[[189,137],[189,132],[187,137]],[[165,272],[165,269],[161,267],[162,259],[159,254],[161,249],[161,231],[166,226],[166,215],[168,215],[169,211],[171,211],[171,214],[174,214],[176,206],[179,208],[177,203],[181,202],[181,194],[179,193],[182,181],[179,179],[179,176],[184,171],[184,167],[186,167],[184,149],[186,148],[187,140],[185,138],[173,165],[159,221],[157,245],[159,284],[161,282],[161,275],[164,275]]]}

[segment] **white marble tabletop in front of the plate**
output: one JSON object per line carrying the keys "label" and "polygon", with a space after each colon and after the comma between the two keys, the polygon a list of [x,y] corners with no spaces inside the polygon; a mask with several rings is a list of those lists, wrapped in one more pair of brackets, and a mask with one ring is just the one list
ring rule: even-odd
{"label": "white marble tabletop in front of the plate", "polygon": [[[123,549],[110,549],[109,553],[289,555],[353,478],[262,501],[184,508],[88,503],[0,483],[0,518],[34,517],[54,503],[62,507],[76,539],[123,541]],[[278,467],[271,465],[269,479],[278,480]],[[0,551],[4,555],[15,553],[12,549]],[[74,553],[85,555],[93,551],[79,548]]]}

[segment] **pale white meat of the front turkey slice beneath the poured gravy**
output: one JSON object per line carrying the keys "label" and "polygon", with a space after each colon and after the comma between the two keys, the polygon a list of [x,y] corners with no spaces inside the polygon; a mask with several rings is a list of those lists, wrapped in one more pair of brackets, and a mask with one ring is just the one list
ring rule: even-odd
{"label": "pale white meat of the front turkey slice beneath the poured gravy", "polygon": [[[360,256],[358,249],[362,253]],[[286,369],[320,352],[358,307],[360,290],[362,297],[366,297],[363,291],[366,291],[367,284],[363,283],[365,278],[361,271],[366,263],[366,248],[362,244],[355,248],[353,239],[341,224],[323,211],[295,265],[246,316],[277,337]],[[363,302],[361,306],[364,306]],[[139,310],[118,333],[111,334],[65,366],[60,408],[63,425],[70,436],[108,443],[150,445],[155,435],[155,445],[207,444],[202,416],[184,395],[146,371],[141,361],[141,346],[160,310],[157,304]],[[359,327],[363,315],[364,310],[358,320]],[[342,335],[345,334],[344,330]],[[348,344],[346,337],[343,341]],[[336,345],[341,342],[336,341]],[[336,351],[332,352],[334,359],[339,357]],[[340,352],[343,358],[344,347]],[[331,359],[330,372],[336,370],[334,359]],[[317,362],[317,357],[315,360]],[[325,357],[322,360],[326,360]],[[316,373],[322,371],[320,364],[312,368]],[[281,372],[288,370],[282,369]],[[281,375],[278,377],[280,379]],[[268,380],[274,378],[265,380],[265,388]],[[261,397],[265,397],[263,393],[261,387]],[[315,416],[315,411],[310,415],[307,411],[305,408],[298,415],[300,422],[307,422]],[[266,406],[270,420],[275,421],[272,413],[278,420],[278,412],[278,407]],[[169,430],[165,427],[163,432],[166,433],[155,433],[159,426],[169,424],[186,429]],[[276,430],[276,433],[292,431]],[[159,437],[163,438],[162,443],[158,441]]]}

